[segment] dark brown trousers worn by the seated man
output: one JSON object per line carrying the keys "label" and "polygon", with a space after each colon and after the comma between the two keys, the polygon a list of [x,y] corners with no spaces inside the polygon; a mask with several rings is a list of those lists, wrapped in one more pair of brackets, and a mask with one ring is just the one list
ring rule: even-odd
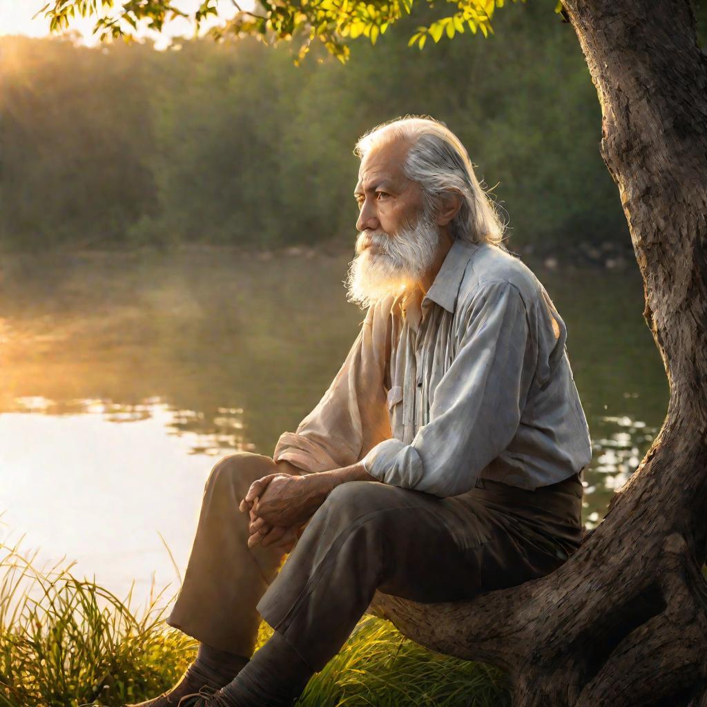
{"label": "dark brown trousers worn by the seated man", "polygon": [[518,585],[559,567],[580,544],[578,474],[536,491],[480,480],[437,498],[375,481],[337,486],[282,556],[247,548],[238,504],[270,457],[225,457],[206,481],[182,590],[167,619],[199,641],[251,655],[262,616],[313,670],[346,641],[376,589],[443,602]]}

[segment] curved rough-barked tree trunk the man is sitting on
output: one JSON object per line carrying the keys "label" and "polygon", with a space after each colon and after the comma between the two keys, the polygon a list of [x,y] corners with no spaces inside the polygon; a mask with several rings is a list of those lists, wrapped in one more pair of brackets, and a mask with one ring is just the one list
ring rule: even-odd
{"label": "curved rough-barked tree trunk the man is sitting on", "polygon": [[378,594],[373,609],[428,648],[508,671],[518,706],[707,707],[707,57],[689,0],[564,4],[602,105],[667,417],[559,570],[469,602]]}

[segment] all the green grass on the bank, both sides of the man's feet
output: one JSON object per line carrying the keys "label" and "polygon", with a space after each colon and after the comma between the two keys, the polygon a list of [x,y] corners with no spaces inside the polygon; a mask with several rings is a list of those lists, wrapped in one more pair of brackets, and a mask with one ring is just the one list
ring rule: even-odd
{"label": "all the green grass on the bank, both sides of the man's feet", "polygon": [[[133,609],[71,564],[34,566],[0,545],[0,707],[119,706],[173,685],[197,643],[164,623],[163,594]],[[132,592],[131,592],[132,593]],[[259,642],[271,629],[262,624]],[[364,617],[316,674],[298,707],[498,707],[510,704],[498,670],[431,653],[386,621]]]}

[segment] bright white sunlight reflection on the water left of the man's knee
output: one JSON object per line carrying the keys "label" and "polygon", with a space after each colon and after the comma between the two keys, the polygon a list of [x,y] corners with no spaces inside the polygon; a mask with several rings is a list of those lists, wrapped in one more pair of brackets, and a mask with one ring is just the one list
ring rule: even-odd
{"label": "bright white sunlight reflection on the water left of the man's knee", "polygon": [[2,541],[23,532],[40,561],[76,559],[78,575],[118,595],[133,578],[141,596],[153,579],[177,583],[160,535],[183,571],[214,462],[204,455],[242,450],[238,438],[185,429],[183,411],[161,402],[93,400],[79,413],[71,401],[60,414],[46,402],[0,415]]}

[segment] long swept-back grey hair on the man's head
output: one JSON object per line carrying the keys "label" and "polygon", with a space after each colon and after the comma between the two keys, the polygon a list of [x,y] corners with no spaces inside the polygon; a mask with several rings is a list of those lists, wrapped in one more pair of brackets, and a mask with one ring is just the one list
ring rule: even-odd
{"label": "long swept-back grey hair on the man's head", "polygon": [[454,192],[462,206],[450,222],[452,238],[503,247],[505,226],[496,204],[481,188],[460,139],[443,123],[416,115],[382,123],[358,139],[354,154],[363,159],[368,151],[399,139],[410,143],[402,170],[421,186],[426,213],[436,214]]}

